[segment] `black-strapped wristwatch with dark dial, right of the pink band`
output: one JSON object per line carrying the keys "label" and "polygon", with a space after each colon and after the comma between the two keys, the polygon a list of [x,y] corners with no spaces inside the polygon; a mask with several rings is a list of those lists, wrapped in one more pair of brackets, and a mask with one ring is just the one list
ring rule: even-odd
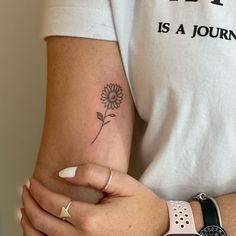
{"label": "black-strapped wristwatch with dark dial, right of the pink band", "polygon": [[222,226],[220,209],[213,197],[206,193],[199,193],[194,197],[198,200],[203,214],[204,227],[200,230],[201,236],[227,236]]}

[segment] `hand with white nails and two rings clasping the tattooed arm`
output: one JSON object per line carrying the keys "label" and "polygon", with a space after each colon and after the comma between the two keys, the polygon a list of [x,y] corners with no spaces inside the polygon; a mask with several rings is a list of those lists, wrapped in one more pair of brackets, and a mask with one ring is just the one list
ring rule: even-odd
{"label": "hand with white nails and two rings clasping the tattooed arm", "polygon": [[[72,168],[73,170],[73,168]],[[75,168],[74,168],[75,170]],[[54,193],[37,180],[23,187],[21,224],[25,236],[157,236],[168,228],[166,202],[131,176],[112,170],[106,197],[98,204],[72,201],[71,218],[61,220],[61,207],[71,201]],[[75,176],[66,181],[101,190],[109,169],[96,164],[78,166]]]}

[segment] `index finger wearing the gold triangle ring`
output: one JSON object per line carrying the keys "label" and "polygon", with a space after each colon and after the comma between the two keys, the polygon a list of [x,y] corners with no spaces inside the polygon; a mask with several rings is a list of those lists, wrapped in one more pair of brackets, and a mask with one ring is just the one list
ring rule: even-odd
{"label": "index finger wearing the gold triangle ring", "polygon": [[[54,193],[44,187],[39,181],[30,179],[30,193],[38,205],[48,213],[59,217],[62,207],[67,207],[71,200],[61,194]],[[94,210],[93,204],[72,201],[68,209],[70,218],[66,220],[72,225],[78,225],[78,221],[85,212]]]}

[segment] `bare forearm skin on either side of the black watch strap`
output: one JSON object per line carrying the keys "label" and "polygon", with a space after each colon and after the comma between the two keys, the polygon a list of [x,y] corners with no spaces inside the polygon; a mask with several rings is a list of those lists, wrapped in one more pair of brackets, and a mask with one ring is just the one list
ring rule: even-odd
{"label": "bare forearm skin on either side of the black watch strap", "polygon": [[[223,228],[229,236],[236,235],[236,194],[227,194],[216,198],[222,217]],[[201,206],[197,201],[191,202],[197,231],[203,228]]]}

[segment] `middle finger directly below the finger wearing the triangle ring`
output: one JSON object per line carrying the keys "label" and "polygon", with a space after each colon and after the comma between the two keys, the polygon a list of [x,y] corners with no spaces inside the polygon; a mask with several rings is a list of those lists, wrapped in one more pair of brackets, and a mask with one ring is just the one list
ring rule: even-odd
{"label": "middle finger directly below the finger wearing the triangle ring", "polygon": [[[56,217],[43,211],[33,200],[26,187],[23,187],[22,200],[29,222],[33,228],[39,232],[43,232],[44,234],[50,236],[64,236],[67,234],[70,235],[70,233],[74,231],[71,224],[57,219]],[[29,225],[27,226],[28,231],[32,231],[32,228],[30,228]],[[34,233],[36,234],[36,232]]]}

